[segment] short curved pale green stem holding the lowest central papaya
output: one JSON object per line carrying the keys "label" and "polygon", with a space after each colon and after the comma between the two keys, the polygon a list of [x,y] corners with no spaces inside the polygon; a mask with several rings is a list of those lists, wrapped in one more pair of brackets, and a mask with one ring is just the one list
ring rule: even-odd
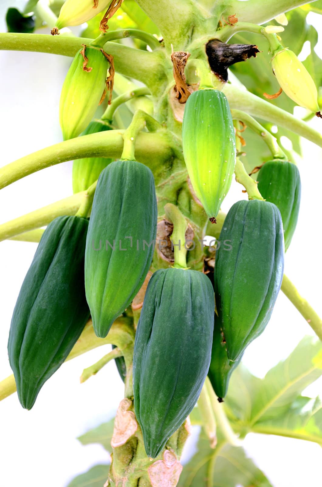
{"label": "short curved pale green stem holding the lowest central papaya", "polygon": [[175,263],[173,267],[178,269],[187,269],[187,249],[185,247],[185,233],[188,227],[187,220],[180,212],[178,206],[167,203],[164,206],[165,217],[173,223],[173,232],[171,244],[174,248]]}

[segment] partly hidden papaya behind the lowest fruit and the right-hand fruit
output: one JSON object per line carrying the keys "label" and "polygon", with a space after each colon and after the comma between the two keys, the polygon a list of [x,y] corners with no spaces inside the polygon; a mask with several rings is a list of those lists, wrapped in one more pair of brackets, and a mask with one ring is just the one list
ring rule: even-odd
{"label": "partly hidden papaya behind the lowest fruit and the right-hand fruit", "polygon": [[218,401],[222,402],[227,394],[230,376],[237,367],[242,357],[235,362],[228,359],[227,346],[224,334],[220,327],[220,321],[215,315],[213,347],[211,350],[211,361],[208,371],[208,377],[211,385],[218,396]]}

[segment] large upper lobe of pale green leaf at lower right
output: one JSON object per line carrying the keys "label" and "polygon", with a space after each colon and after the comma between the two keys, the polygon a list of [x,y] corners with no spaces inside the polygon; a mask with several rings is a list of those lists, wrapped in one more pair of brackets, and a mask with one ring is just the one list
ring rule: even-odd
{"label": "large upper lobe of pale green leaf at lower right", "polygon": [[254,431],[263,421],[282,420],[302,391],[321,375],[322,343],[304,337],[263,379],[251,375],[242,365],[236,369],[226,398],[228,415],[239,430],[248,431]]}

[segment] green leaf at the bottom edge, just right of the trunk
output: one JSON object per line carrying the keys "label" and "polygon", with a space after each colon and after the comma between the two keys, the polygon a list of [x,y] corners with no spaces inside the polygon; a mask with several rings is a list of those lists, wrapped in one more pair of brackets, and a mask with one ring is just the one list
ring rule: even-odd
{"label": "green leaf at the bottom edge, just right of the trunk", "polygon": [[178,487],[271,487],[242,447],[225,443],[211,449],[209,439],[201,432],[197,450],[183,467]]}

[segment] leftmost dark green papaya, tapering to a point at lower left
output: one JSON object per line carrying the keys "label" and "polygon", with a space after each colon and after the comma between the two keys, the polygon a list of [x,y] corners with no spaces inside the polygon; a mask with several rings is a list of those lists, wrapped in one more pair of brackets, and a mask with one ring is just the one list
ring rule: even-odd
{"label": "leftmost dark green papaya, tapering to a point at lower left", "polygon": [[8,353],[21,405],[31,409],[89,319],[84,256],[88,221],[55,218],[44,231],[11,320]]}

